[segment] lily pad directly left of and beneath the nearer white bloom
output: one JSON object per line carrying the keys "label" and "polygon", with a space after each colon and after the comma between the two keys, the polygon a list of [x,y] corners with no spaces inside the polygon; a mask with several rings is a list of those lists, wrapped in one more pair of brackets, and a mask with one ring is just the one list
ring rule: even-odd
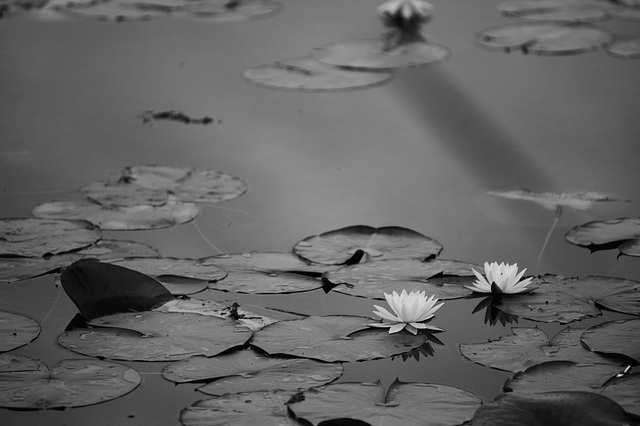
{"label": "lily pad directly left of and beneath the nearer white bloom", "polygon": [[320,361],[364,361],[408,352],[425,336],[389,334],[369,329],[370,318],[330,315],[280,321],[256,332],[251,345],[271,355],[291,355]]}

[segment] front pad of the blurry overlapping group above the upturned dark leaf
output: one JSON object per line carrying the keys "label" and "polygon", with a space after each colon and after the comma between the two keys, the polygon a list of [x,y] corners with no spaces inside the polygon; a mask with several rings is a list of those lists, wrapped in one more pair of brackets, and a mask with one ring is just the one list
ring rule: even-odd
{"label": "front pad of the blurry overlapping group above the upturned dark leaf", "polygon": [[168,228],[189,222],[198,215],[198,206],[170,196],[166,204],[103,207],[83,201],[58,201],[40,204],[31,214],[42,219],[83,219],[103,230],[124,231]]}

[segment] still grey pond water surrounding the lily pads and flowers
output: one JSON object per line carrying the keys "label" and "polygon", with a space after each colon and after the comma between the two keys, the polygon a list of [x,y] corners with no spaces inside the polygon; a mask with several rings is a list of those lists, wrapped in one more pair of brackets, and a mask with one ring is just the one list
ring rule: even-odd
{"label": "still grey pond water surrounding the lily pads and flowers", "polygon": [[[164,256],[290,251],[311,235],[357,224],[403,226],[439,241],[440,258],[518,263],[531,274],[602,275],[640,280],[640,261],[617,250],[593,254],[564,239],[592,220],[640,211],[640,62],[602,51],[545,57],[474,45],[474,34],[507,21],[497,1],[434,0],[430,41],[445,62],[398,73],[388,84],[340,93],[269,90],[242,72],[305,56],[340,40],[377,37],[379,2],[283,0],[268,19],[212,23],[0,20],[0,217],[28,217],[33,206],[77,199],[77,189],[130,165],[217,169],[249,183],[234,200],[201,205],[194,222],[152,231],[105,231]],[[637,22],[599,24],[637,35]],[[143,123],[144,111],[209,116],[211,124]],[[628,200],[564,209],[536,270],[554,212],[488,195],[528,188],[593,191]],[[206,291],[195,295],[313,315],[371,316],[374,301],[320,290],[289,295]],[[375,303],[378,303],[377,301]],[[461,343],[535,326],[520,319],[484,323],[477,300],[446,301],[434,323],[432,356],[350,363],[339,379],[390,384],[423,381],[460,387],[485,402],[512,373],[459,354]],[[53,275],[0,286],[0,310],[42,324],[34,342],[12,353],[54,365],[78,358],[56,343],[77,312]],[[605,311],[576,327],[630,318]],[[573,325],[572,325],[573,326]],[[177,425],[181,409],[207,396],[176,386],[168,363],[125,362],[143,376],[133,393],[95,406],[41,412],[0,409],[5,425]]]}

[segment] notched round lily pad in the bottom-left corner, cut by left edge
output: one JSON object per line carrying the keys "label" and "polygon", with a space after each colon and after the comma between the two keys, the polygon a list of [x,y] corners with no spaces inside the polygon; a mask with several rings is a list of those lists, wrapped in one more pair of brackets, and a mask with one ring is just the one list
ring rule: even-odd
{"label": "notched round lily pad in the bottom-left corner, cut by left edge", "polygon": [[0,354],[0,407],[45,410],[119,398],[142,381],[134,369],[96,359],[67,359],[49,369],[40,361]]}

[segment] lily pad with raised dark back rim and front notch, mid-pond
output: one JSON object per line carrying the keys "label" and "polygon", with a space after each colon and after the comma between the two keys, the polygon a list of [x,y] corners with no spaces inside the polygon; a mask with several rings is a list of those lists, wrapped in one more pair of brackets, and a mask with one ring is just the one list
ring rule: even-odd
{"label": "lily pad with raised dark back rim and front notch, mid-pond", "polygon": [[438,255],[442,246],[399,226],[355,225],[307,237],[293,247],[293,252],[303,259],[328,265],[343,264],[358,250],[365,252],[367,260],[426,259]]}

